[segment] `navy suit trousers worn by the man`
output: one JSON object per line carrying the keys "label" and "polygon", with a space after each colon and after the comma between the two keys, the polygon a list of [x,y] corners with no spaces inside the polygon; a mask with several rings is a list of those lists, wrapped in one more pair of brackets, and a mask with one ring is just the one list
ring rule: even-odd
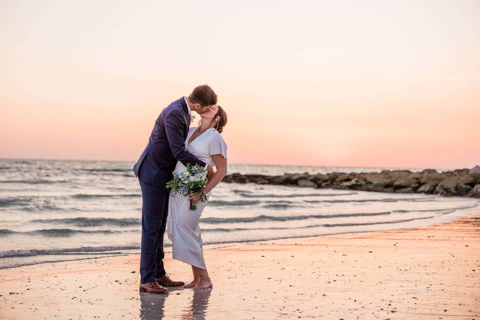
{"label": "navy suit trousers worn by the man", "polygon": [[165,275],[163,234],[168,215],[169,190],[138,179],[141,188],[140,283]]}

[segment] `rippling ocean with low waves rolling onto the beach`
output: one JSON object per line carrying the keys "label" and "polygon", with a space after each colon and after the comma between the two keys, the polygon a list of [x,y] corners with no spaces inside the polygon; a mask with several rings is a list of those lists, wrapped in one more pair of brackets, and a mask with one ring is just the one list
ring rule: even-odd
{"label": "rippling ocean with low waves rolling onto the beach", "polygon": [[[132,165],[0,159],[0,268],[138,253],[141,194]],[[382,169],[394,168],[230,164],[228,172]],[[479,202],[427,194],[220,182],[202,213],[200,227],[207,249],[240,242],[430,226],[468,216]],[[170,246],[165,236],[166,251]]]}

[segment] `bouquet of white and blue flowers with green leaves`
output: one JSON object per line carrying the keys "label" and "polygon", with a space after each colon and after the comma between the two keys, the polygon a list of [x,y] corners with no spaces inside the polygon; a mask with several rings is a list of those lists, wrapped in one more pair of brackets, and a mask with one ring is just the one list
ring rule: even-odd
{"label": "bouquet of white and blue flowers with green leaves", "polygon": [[[188,195],[194,193],[200,197],[201,202],[206,201],[203,188],[208,182],[208,172],[200,165],[187,163],[186,170],[173,171],[173,179],[166,182],[166,187],[175,194]],[[196,205],[190,200],[190,210],[196,210]]]}

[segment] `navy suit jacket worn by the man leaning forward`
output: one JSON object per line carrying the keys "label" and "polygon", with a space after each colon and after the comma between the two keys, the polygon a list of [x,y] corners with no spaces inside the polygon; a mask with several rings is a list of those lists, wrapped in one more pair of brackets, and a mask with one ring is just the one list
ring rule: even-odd
{"label": "navy suit jacket worn by the man leaning forward", "polygon": [[133,172],[141,180],[159,188],[171,179],[176,161],[198,163],[199,160],[185,149],[185,139],[190,126],[190,115],[183,97],[171,102],[155,120],[148,144],[133,165]]}

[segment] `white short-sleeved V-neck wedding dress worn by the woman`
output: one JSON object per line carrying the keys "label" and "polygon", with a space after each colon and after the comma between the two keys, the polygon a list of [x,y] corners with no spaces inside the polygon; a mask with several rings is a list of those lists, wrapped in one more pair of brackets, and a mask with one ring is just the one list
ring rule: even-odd
{"label": "white short-sleeved V-neck wedding dress worn by the woman", "polygon": [[[192,127],[188,130],[185,145],[186,149],[200,160],[214,165],[212,154],[221,154],[226,159],[226,144],[220,133],[214,128],[206,129],[187,145],[188,139],[196,130]],[[186,167],[178,161],[175,170],[183,171]],[[168,198],[168,217],[166,229],[168,238],[172,241],[172,255],[174,259],[186,262],[196,267],[206,269],[203,259],[201,232],[198,221],[211,191],[206,194],[206,202],[198,202],[196,210],[190,210],[190,201],[187,196],[174,195],[170,192]]]}

